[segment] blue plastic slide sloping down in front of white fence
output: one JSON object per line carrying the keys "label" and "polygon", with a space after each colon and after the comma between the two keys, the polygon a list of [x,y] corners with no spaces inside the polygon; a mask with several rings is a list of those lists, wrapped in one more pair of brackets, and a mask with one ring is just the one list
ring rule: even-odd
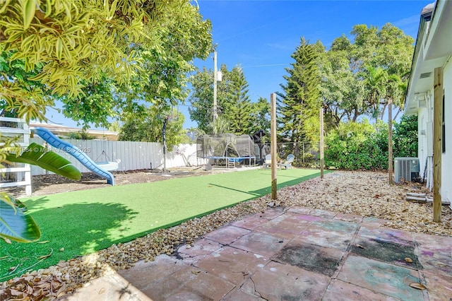
{"label": "blue plastic slide sloping down in front of white fence", "polygon": [[44,139],[44,141],[49,143],[54,148],[59,148],[62,151],[69,153],[69,155],[79,160],[83,164],[83,166],[88,168],[88,170],[91,170],[93,173],[100,177],[105,177],[108,184],[114,185],[114,177],[112,173],[100,168],[99,165],[97,165],[93,160],[91,160],[90,157],[88,157],[88,155],[83,153],[83,151],[78,149],[76,146],[73,146],[71,143],[67,143],[66,141],[61,140],[60,138],[52,134],[48,129],[37,127],[36,129],[32,129],[32,131],[39,135],[42,139]]}

